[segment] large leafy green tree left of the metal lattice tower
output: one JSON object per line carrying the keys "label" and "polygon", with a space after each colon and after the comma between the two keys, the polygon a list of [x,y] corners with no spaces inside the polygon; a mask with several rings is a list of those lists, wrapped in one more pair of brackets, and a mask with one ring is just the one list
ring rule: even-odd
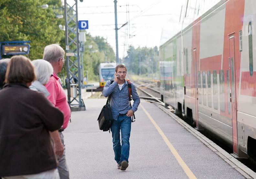
{"label": "large leafy green tree left of the metal lattice tower", "polygon": [[[43,4],[49,8],[42,9]],[[59,7],[61,0],[1,0],[0,41],[30,41],[27,57],[41,59],[46,45],[60,44],[65,37],[59,29],[64,20],[54,14],[53,8]]]}

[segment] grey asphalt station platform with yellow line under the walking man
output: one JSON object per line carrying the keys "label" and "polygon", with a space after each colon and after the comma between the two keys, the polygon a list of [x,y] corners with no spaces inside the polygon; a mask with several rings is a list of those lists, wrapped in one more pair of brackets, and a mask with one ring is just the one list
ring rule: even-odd
{"label": "grey asphalt station platform with yellow line under the walking man", "polygon": [[70,178],[253,178],[144,100],[132,123],[129,167],[118,170],[112,134],[100,131],[97,121],[106,99],[84,102],[86,111],[72,112],[63,132]]}

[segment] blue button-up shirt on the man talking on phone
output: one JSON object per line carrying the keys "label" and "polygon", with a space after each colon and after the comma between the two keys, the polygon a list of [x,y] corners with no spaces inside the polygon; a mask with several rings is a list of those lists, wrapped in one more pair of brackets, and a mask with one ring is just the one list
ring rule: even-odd
{"label": "blue button-up shirt on the man talking on phone", "polygon": [[140,104],[140,97],[133,83],[132,96],[134,102],[133,107],[131,108],[129,105],[129,91],[127,81],[125,80],[125,83],[121,90],[119,89],[119,86],[115,81],[112,84],[110,84],[110,82],[110,80],[106,82],[102,94],[103,96],[107,97],[112,93],[110,107],[113,119],[117,120],[119,114],[126,114],[130,109],[132,109],[133,112],[137,111]]}

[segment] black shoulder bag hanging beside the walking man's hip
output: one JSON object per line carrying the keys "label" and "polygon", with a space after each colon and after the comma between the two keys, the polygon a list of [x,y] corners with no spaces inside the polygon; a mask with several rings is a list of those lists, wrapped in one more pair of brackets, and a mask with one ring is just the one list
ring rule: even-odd
{"label": "black shoulder bag hanging beside the walking man's hip", "polygon": [[[112,84],[113,82],[114,80],[112,80],[110,84]],[[107,103],[101,109],[101,113],[97,119],[97,121],[99,122],[100,130],[102,131],[109,131],[114,120],[112,116],[110,104],[109,104],[111,96],[112,94],[108,96]]]}

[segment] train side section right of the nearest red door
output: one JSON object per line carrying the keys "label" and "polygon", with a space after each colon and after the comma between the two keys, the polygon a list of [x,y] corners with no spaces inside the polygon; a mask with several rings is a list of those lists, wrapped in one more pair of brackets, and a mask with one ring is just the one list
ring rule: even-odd
{"label": "train side section right of the nearest red door", "polygon": [[[256,1],[246,0],[244,4],[243,28],[241,29],[240,83],[237,112],[239,149],[255,158],[247,146],[256,142]],[[239,39],[240,40],[240,39]],[[237,41],[239,45],[239,40]],[[250,140],[251,139],[251,140]],[[249,142],[249,143],[248,143]],[[254,148],[254,150],[256,150]],[[254,156],[253,156],[254,155]]]}

